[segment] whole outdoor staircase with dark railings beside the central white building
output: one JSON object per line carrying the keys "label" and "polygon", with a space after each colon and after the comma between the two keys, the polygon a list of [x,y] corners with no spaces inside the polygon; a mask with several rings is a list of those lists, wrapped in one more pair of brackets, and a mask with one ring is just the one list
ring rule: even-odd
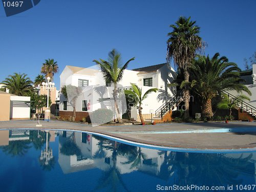
{"label": "whole outdoor staircase with dark railings beside the central white building", "polygon": [[183,101],[183,91],[178,91],[175,95],[163,103],[156,111],[153,119],[163,120],[163,116],[166,112],[173,111]]}

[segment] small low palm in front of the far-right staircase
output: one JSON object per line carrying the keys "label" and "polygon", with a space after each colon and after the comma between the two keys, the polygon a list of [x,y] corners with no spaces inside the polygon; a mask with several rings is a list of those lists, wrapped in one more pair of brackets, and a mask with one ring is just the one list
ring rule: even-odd
{"label": "small low palm in front of the far-right staircase", "polygon": [[238,95],[236,99],[230,99],[227,94],[223,94],[223,99],[218,103],[218,108],[223,110],[229,110],[229,117],[232,115],[232,109],[236,109],[238,102],[243,100],[250,100],[245,95]]}

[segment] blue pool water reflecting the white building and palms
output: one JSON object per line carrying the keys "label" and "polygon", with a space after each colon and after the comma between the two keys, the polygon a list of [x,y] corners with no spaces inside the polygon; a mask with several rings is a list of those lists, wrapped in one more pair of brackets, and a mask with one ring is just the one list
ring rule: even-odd
{"label": "blue pool water reflecting the white building and palms", "polygon": [[256,178],[256,153],[159,151],[81,132],[0,131],[0,159],[1,191],[157,191]]}

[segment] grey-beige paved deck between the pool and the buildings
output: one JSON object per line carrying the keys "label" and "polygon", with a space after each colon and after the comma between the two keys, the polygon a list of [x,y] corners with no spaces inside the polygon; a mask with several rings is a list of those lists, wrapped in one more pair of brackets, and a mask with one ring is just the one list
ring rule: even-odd
{"label": "grey-beige paved deck between the pool and the buildings", "polygon": [[0,122],[0,129],[54,129],[99,133],[128,141],[201,150],[255,149],[256,122],[163,123],[156,125],[97,126],[63,121],[13,120]]}

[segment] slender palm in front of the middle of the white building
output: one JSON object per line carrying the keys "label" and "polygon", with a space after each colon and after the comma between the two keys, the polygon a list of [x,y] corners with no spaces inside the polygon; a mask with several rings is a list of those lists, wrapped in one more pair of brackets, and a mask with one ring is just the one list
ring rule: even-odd
{"label": "slender palm in front of the middle of the white building", "polygon": [[115,110],[117,112],[116,117],[118,122],[122,122],[122,120],[120,118],[120,112],[117,105],[117,83],[122,79],[124,70],[127,68],[129,63],[134,59],[135,57],[129,59],[127,62],[125,62],[124,65],[122,65],[121,54],[118,53],[115,49],[113,49],[109,53],[108,61],[105,61],[103,59],[100,59],[100,61],[93,60],[97,63],[97,65],[100,66],[101,73],[103,74],[105,81],[114,84],[113,98]]}

